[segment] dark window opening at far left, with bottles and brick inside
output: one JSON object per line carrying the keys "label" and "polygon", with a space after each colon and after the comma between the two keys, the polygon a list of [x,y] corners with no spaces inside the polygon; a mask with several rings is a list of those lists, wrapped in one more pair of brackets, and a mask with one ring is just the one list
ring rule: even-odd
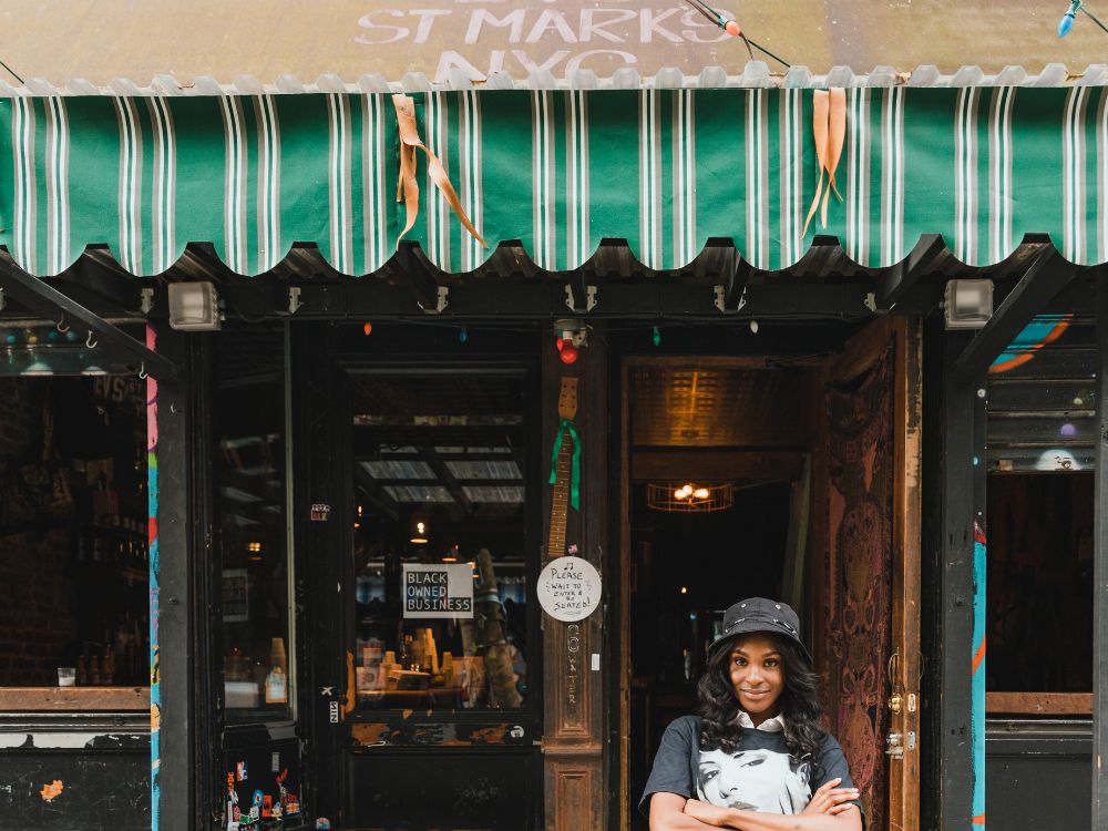
{"label": "dark window opening at far left, with bottles and brick inside", "polygon": [[145,382],[9,378],[0,401],[0,686],[150,686]]}

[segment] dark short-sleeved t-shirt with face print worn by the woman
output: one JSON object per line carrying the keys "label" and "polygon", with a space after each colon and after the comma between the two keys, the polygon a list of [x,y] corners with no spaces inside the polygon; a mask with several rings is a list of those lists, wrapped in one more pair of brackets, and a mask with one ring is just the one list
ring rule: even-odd
{"label": "dark short-sleeved t-shirt with face print worn by the woman", "polygon": [[847,757],[830,733],[823,733],[815,759],[803,760],[789,755],[781,732],[743,729],[742,741],[731,753],[701,750],[699,737],[696,716],[683,716],[666,728],[638,803],[640,811],[648,812],[652,794],[665,792],[721,808],[800,813],[831,779],[842,779],[839,788],[854,786]]}

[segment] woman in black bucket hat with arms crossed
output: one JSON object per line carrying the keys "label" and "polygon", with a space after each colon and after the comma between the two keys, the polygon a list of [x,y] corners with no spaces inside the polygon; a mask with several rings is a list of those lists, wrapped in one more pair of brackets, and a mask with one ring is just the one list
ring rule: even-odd
{"label": "woman in black bucket hat with arms crossed", "polygon": [[[639,809],[650,831],[862,831],[847,758],[819,728],[812,658],[783,603],[727,609],[697,685],[697,716],[661,737]],[[797,815],[799,814],[799,815]]]}

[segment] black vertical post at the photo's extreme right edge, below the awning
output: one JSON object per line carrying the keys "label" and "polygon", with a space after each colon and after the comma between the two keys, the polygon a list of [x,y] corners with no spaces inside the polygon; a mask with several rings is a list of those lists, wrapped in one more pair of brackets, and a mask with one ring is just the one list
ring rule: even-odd
{"label": "black vertical post at the photo's extreme right edge, below the awning", "polygon": [[1108,825],[1108,770],[1099,763],[1108,753],[1108,267],[1097,283],[1097,458],[1092,554],[1092,822]]}

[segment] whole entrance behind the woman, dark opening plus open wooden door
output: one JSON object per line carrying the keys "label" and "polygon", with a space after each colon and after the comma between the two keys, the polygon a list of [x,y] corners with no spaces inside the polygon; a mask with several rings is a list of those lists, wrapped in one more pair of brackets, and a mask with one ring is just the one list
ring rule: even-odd
{"label": "whole entrance behind the woman, dark opening plus open wooden door", "polygon": [[[919,828],[920,342],[890,316],[819,357],[624,359],[620,828],[646,828],[661,731],[753,595],[799,614],[871,824]],[[715,511],[650,507],[717,489]]]}

